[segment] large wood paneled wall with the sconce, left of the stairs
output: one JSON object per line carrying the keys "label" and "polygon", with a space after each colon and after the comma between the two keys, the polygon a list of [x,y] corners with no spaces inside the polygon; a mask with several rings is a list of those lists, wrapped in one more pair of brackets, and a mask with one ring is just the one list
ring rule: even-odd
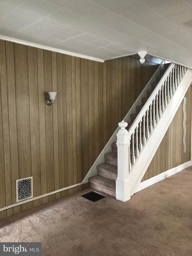
{"label": "large wood paneled wall with the sconce, left of the stairs", "polygon": [[[81,182],[161,62],[148,61],[98,63],[0,40],[0,208],[16,203],[16,179],[33,176],[34,197]],[[49,91],[57,92],[53,106],[45,103]]]}

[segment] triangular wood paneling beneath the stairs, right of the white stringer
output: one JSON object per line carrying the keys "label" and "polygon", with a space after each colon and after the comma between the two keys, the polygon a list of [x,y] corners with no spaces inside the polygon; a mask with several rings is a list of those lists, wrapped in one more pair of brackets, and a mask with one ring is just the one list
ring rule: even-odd
{"label": "triangular wood paneling beneath the stairs, right of the white stringer", "polygon": [[179,106],[157,152],[154,155],[142,181],[191,160],[191,113],[192,89],[189,86],[186,97],[186,153],[183,152],[183,101]]}

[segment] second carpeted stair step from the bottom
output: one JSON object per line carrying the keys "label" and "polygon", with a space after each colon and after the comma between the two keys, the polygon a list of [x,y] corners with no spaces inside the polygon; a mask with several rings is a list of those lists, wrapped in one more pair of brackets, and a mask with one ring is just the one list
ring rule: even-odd
{"label": "second carpeted stair step from the bottom", "polygon": [[99,164],[97,166],[98,175],[107,179],[117,179],[117,166],[111,164]]}

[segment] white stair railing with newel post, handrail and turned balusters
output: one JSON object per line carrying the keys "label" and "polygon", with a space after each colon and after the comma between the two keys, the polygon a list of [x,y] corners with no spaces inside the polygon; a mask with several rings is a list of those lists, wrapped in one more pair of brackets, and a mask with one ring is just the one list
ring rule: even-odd
{"label": "white stair railing with newel post, handrail and turned balusters", "polygon": [[[119,127],[121,129],[117,133],[116,143],[118,157],[116,199],[124,202],[130,199],[130,194],[125,195],[122,194],[122,191],[118,191],[120,183],[123,187],[122,177],[126,177],[126,183],[128,184],[129,173],[131,172],[131,169],[133,168],[135,162],[137,161],[137,158],[139,157],[140,153],[144,149],[144,146],[147,140],[149,139],[150,135],[152,134],[153,129],[158,124],[159,119],[161,118],[169,101],[174,95],[186,70],[187,69],[183,66],[171,63],[170,66],[167,68],[167,71],[162,76],[161,80],[158,82],[154,91],[144,104],[142,110],[132,123],[128,132],[125,132],[125,127],[127,127],[128,123],[124,121],[119,123]],[[124,130],[122,131],[122,129]],[[119,139],[120,134],[121,140]],[[123,134],[126,135],[126,139],[124,140],[122,138]],[[125,148],[126,152],[124,152],[123,150]],[[131,154],[129,152],[131,152]],[[122,174],[122,172],[126,172],[126,174]]]}

